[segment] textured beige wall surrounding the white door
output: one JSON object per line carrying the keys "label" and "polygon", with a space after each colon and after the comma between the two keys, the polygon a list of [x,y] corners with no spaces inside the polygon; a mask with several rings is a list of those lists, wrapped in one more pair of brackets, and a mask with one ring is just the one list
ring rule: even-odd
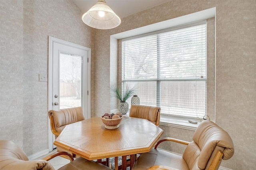
{"label": "textured beige wall surrounding the white door", "polygon": [[94,49],[94,29],[70,0],[0,0],[0,6],[0,139],[29,156],[48,149],[48,82],[38,81],[48,74],[48,36]]}

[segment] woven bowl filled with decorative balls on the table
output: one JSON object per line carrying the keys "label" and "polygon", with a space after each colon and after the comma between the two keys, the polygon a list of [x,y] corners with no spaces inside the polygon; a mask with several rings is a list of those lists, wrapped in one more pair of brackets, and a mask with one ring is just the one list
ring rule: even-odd
{"label": "woven bowl filled with decorative balls on the table", "polygon": [[117,129],[122,118],[123,115],[120,112],[117,112],[116,114],[105,113],[101,117],[101,120],[104,123],[106,129]]}

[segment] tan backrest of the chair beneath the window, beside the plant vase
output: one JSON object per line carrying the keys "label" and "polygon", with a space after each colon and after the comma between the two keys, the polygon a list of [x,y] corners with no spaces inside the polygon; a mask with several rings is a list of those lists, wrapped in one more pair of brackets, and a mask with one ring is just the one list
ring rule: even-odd
{"label": "tan backrest of the chair beneath the window, beside the plant vase", "polygon": [[129,116],[147,119],[158,126],[160,121],[160,110],[160,107],[156,106],[132,105]]}

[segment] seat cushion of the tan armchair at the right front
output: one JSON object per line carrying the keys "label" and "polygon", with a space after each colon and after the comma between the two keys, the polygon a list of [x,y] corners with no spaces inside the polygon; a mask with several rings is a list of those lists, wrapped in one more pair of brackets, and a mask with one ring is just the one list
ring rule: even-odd
{"label": "seat cushion of the tan armchair at the right front", "polygon": [[136,160],[132,170],[146,170],[154,165],[164,165],[180,170],[189,170],[182,155],[160,149],[152,149],[141,154]]}

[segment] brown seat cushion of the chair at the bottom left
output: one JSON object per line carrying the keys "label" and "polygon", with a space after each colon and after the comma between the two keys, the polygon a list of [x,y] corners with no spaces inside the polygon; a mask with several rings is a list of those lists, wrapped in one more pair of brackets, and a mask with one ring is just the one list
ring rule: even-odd
{"label": "brown seat cushion of the chair at the bottom left", "polygon": [[73,160],[72,162],[62,166],[58,170],[111,170],[98,162],[87,160],[82,157]]}

